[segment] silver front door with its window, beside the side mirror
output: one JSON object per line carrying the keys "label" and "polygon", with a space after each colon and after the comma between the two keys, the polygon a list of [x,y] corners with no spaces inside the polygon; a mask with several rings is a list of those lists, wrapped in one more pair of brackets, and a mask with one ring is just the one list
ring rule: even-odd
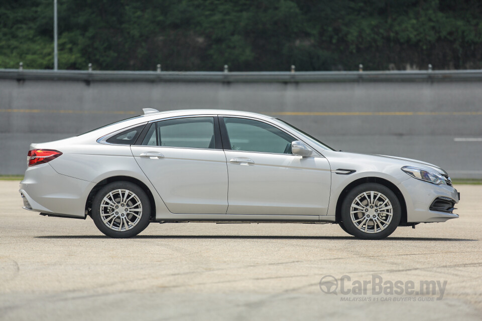
{"label": "silver front door with its window, beside the side mirror", "polygon": [[227,214],[326,215],[331,184],[326,158],[293,155],[291,142],[298,139],[266,122],[222,120]]}

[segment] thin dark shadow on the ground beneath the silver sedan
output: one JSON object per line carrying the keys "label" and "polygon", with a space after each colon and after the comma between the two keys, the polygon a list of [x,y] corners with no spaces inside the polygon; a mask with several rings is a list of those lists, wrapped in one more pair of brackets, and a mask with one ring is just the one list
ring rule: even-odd
{"label": "thin dark shadow on the ground beneath the silver sedan", "polygon": [[[104,235],[42,235],[39,239],[104,239]],[[298,235],[137,235],[133,239],[262,239],[262,240],[357,240],[353,236],[298,236]],[[384,241],[384,240],[381,240]],[[478,239],[443,237],[388,237],[385,241],[469,242]]]}

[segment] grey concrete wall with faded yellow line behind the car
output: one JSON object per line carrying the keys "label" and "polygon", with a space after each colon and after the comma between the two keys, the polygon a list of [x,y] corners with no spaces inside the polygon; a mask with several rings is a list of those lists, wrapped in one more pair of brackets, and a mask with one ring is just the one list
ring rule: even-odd
{"label": "grey concrete wall with faded yellow line behind the car", "polygon": [[[274,114],[337,149],[422,159],[482,178],[482,82],[118,82],[0,79],[0,174],[31,142],[159,110]],[[468,139],[467,138],[475,138]]]}

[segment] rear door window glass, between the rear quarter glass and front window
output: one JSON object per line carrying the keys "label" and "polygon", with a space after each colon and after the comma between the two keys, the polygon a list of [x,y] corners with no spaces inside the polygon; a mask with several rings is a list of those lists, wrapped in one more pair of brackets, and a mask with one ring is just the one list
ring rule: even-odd
{"label": "rear door window glass, between the rear quarter glass and front window", "polygon": [[187,117],[158,121],[151,125],[143,145],[215,148],[213,117]]}

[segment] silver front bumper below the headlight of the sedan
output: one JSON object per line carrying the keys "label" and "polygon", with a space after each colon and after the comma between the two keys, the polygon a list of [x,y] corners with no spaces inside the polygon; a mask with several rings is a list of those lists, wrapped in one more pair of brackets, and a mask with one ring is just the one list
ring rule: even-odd
{"label": "silver front bumper below the headlight of the sedan", "polygon": [[[450,200],[457,204],[460,194],[452,186],[434,185],[410,178],[398,185],[407,206],[407,222],[445,222],[459,216],[449,211],[434,210],[434,201],[439,198]],[[430,209],[432,207],[432,209]]]}

